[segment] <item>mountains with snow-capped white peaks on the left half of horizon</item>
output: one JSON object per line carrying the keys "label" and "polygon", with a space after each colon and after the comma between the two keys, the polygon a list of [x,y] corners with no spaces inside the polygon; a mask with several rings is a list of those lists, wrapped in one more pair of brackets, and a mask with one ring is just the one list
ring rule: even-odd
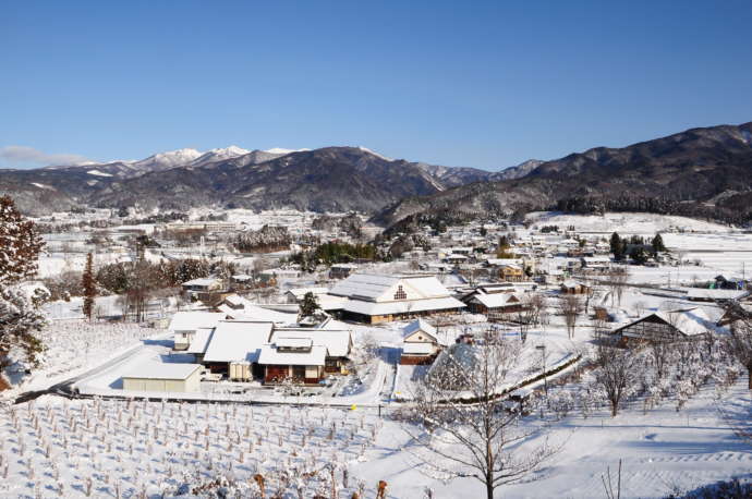
{"label": "mountains with snow-capped white peaks on the left half of horizon", "polygon": [[0,192],[11,194],[31,214],[81,205],[375,212],[407,196],[434,194],[499,174],[392,160],[363,147],[247,150],[230,146],[206,153],[178,149],[137,161],[0,170]]}

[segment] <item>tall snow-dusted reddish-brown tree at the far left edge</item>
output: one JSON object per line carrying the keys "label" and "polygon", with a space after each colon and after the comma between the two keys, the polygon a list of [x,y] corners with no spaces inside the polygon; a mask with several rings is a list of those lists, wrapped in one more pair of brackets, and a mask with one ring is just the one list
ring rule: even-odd
{"label": "tall snow-dusted reddish-brown tree at the far left edge", "polygon": [[19,212],[13,199],[0,196],[0,366],[13,348],[33,364],[44,350],[34,332],[45,325],[39,305],[46,293],[37,290],[28,296],[16,285],[36,273],[44,245],[34,222]]}

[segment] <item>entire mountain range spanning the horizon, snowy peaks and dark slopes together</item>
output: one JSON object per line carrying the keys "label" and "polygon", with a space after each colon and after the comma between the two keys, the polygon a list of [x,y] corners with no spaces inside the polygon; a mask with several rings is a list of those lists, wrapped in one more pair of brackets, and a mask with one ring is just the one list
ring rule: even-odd
{"label": "entire mountain range spanning the horizon, snowy peaks and dark slopes together", "polygon": [[693,129],[499,172],[389,159],[362,147],[201,153],[0,170],[0,193],[29,214],[74,206],[296,208],[374,214],[385,226],[533,209],[633,209],[749,217],[752,124]]}

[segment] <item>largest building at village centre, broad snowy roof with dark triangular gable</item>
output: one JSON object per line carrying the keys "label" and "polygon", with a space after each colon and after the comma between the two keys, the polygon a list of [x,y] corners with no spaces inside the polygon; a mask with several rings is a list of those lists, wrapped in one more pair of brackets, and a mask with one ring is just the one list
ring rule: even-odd
{"label": "largest building at village centre, broad snowy roof with dark triangular gable", "polygon": [[465,307],[435,276],[426,275],[355,273],[329,294],[348,299],[342,304],[343,318],[366,324],[457,313]]}

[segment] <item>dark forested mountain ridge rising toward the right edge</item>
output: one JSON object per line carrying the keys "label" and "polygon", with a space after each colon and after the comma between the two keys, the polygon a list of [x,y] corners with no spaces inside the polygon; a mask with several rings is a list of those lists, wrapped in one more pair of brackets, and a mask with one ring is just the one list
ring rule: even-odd
{"label": "dark forested mountain ridge rising toward the right edge", "polygon": [[401,199],[374,221],[404,229],[438,218],[541,209],[653,211],[737,223],[752,218],[752,123],[692,129],[518,168],[500,181]]}

